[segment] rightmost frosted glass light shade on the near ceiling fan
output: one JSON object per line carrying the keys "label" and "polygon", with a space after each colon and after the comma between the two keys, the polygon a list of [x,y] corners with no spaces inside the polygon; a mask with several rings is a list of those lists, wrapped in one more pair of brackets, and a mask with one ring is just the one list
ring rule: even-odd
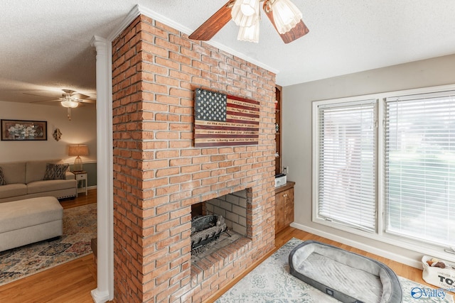
{"label": "rightmost frosted glass light shade on the near ceiling fan", "polygon": [[271,9],[278,33],[291,31],[301,21],[301,11],[289,0],[275,0]]}

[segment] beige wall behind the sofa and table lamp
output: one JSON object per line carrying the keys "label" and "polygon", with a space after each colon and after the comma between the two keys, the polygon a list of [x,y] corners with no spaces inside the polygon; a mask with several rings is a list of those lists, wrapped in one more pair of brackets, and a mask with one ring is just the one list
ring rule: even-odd
{"label": "beige wall behind the sofa and table lamp", "polygon": [[[0,141],[0,162],[62,159],[73,163],[75,157],[68,156],[68,145],[73,144],[88,145],[89,155],[81,156],[83,162],[97,159],[96,109],[93,105],[72,109],[69,121],[67,109],[60,105],[0,101],[0,119],[48,122],[47,141]],[[60,141],[52,136],[55,128],[63,133]]]}

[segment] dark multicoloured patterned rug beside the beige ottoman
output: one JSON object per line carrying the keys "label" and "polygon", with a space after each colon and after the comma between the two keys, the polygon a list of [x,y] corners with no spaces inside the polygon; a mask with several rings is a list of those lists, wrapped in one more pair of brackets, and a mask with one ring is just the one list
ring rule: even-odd
{"label": "dark multicoloured patterned rug beside the beige ottoman", "polygon": [[97,204],[63,210],[63,236],[0,252],[0,285],[67,263],[92,252]]}

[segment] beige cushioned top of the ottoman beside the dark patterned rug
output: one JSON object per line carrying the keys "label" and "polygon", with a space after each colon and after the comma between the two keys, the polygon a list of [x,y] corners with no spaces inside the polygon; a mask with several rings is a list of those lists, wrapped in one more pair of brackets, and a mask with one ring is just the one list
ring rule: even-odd
{"label": "beige cushioned top of the ottoman beside the dark patterned rug", "polygon": [[55,197],[39,197],[0,203],[0,231],[61,220],[63,207]]}

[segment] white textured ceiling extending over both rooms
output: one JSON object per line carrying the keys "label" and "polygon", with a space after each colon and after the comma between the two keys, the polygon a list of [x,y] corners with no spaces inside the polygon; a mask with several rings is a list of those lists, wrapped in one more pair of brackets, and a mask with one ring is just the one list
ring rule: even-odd
{"label": "white textured ceiling extending over both rooms", "polygon": [[[136,4],[189,34],[226,1],[1,0],[0,101],[49,100],[61,89],[95,97],[93,35],[107,37]],[[232,21],[211,41],[278,72],[283,86],[455,53],[454,0],[292,1],[310,30],[293,43],[264,15],[259,43],[237,41]]]}

